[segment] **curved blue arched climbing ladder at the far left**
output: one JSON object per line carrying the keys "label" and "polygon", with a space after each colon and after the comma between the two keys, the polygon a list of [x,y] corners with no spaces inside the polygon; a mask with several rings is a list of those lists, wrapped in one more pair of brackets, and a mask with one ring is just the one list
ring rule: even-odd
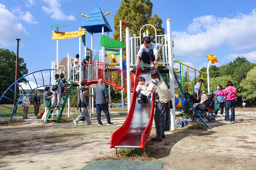
{"label": "curved blue arched climbing ladder at the far left", "polygon": [[[48,71],[49,71],[49,72],[48,72]],[[52,84],[51,84],[51,82],[52,82],[52,81],[51,81],[51,80],[52,80],[51,71],[54,71],[54,69],[39,70],[39,71],[32,72],[32,73],[27,74],[27,75],[23,76],[22,78],[18,79],[18,80],[17,80],[16,82],[14,82],[10,87],[8,87],[7,90],[5,90],[4,94],[1,96],[0,102],[1,102],[2,98],[6,98],[6,99],[11,100],[12,102],[14,102],[14,103],[15,103],[15,106],[14,106],[14,108],[10,108],[10,107],[3,106],[3,105],[0,104],[0,106],[7,107],[7,108],[10,108],[10,109],[13,110],[13,111],[12,111],[12,115],[4,115],[4,116],[11,116],[11,119],[12,119],[13,114],[14,114],[14,111],[15,111],[15,109],[16,109],[18,103],[19,103],[20,100],[22,100],[22,98],[23,98],[26,94],[28,94],[29,92],[31,92],[31,91],[33,91],[33,90],[39,88],[39,87],[52,86]],[[38,78],[38,75],[37,75],[37,79],[35,78],[35,74],[37,74],[37,73],[41,73],[41,75],[42,75],[42,77],[41,77],[42,83],[43,83],[42,86],[38,86],[38,84],[37,84],[37,82],[38,82],[37,79],[40,78],[40,77]],[[43,74],[43,73],[44,73],[44,74]],[[48,73],[49,73],[49,74],[48,74]],[[33,75],[33,77],[34,77],[35,84],[37,84],[37,87],[36,87],[36,88],[32,88],[32,87],[30,86],[30,84],[29,84],[29,81],[27,80],[27,78],[28,78],[29,76],[31,76],[31,75]],[[45,78],[44,78],[44,77],[47,77],[47,79],[48,79],[48,77],[50,77],[50,81],[49,81],[48,84],[45,83]],[[19,85],[18,82],[19,82],[20,80],[22,80],[22,79],[25,80],[25,81],[29,84],[30,89],[31,89],[30,91],[26,92],[26,91]],[[19,94],[15,93],[13,90],[11,90],[11,87],[15,86],[15,84],[18,85],[17,87],[22,88],[22,90],[23,90],[23,94],[22,94],[22,95],[19,95]],[[17,98],[20,98],[19,101],[18,101],[18,102],[15,102],[14,100],[12,100],[12,99],[7,98],[6,96],[4,96],[7,91],[11,91],[11,92],[13,92],[14,94],[16,94],[16,95],[17,95]],[[0,115],[3,115],[3,114],[0,114]]]}

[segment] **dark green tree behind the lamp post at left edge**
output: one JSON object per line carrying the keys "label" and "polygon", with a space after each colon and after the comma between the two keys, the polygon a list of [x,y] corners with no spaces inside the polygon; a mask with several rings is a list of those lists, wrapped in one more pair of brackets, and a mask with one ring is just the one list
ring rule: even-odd
{"label": "dark green tree behind the lamp post at left edge", "polygon": [[[0,95],[3,95],[5,90],[15,82],[15,70],[16,70],[16,54],[8,49],[0,48]],[[28,73],[27,64],[24,59],[19,57],[18,59],[18,79]],[[15,86],[11,88],[15,91]],[[17,88],[17,91],[18,88]],[[7,98],[14,100],[14,93],[7,91],[4,95]],[[11,100],[6,98],[1,99],[1,104],[12,104]]]}

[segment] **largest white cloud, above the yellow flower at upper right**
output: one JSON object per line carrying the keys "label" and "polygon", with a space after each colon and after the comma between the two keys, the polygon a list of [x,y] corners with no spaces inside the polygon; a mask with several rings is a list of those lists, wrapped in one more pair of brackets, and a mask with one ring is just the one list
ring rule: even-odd
{"label": "largest white cloud, above the yellow flower at upper right", "polygon": [[202,16],[193,19],[187,32],[173,31],[174,54],[177,57],[206,56],[223,44],[231,50],[256,48],[256,10],[233,18]]}

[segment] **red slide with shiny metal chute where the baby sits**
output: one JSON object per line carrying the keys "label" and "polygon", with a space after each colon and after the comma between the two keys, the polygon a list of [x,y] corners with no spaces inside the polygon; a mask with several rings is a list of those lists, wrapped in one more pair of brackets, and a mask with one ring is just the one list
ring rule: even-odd
{"label": "red slide with shiny metal chute where the baby sits", "polygon": [[[151,80],[150,68],[138,67],[135,74],[134,89],[137,87],[138,78],[143,76],[146,82]],[[150,100],[137,102],[137,92],[134,90],[132,103],[127,118],[123,125],[117,129],[110,139],[110,148],[141,148],[143,149],[149,138],[154,117],[154,93]]]}

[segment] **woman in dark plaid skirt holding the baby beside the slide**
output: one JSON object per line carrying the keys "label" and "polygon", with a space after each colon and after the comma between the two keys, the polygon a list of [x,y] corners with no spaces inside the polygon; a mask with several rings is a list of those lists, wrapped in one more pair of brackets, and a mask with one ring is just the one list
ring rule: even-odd
{"label": "woman in dark plaid skirt holding the baby beside the slide", "polygon": [[170,100],[166,103],[161,102],[157,85],[156,83],[159,83],[163,81],[163,78],[160,76],[160,72],[157,70],[157,68],[151,68],[150,70],[150,77],[152,79],[152,82],[148,82],[148,88],[146,90],[146,95],[150,94],[152,91],[154,91],[155,98],[156,98],[156,104],[155,104],[155,129],[157,130],[157,137],[152,138],[152,141],[163,141],[163,138],[165,138],[165,131],[170,130],[170,108],[171,108],[171,102]]}

